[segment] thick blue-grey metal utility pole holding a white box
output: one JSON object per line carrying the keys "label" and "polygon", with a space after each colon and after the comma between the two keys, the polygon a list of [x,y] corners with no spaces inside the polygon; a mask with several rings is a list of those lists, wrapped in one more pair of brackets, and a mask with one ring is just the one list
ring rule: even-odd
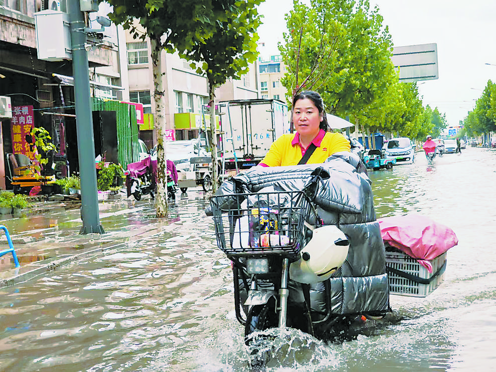
{"label": "thick blue-grey metal utility pole holding a white box", "polygon": [[71,23],[72,75],[74,77],[74,98],[76,106],[77,152],[79,176],[81,178],[81,220],[80,234],[103,234],[98,212],[98,189],[96,187],[95,140],[93,138],[93,117],[91,114],[88,55],[84,44],[86,31],[84,14],[79,0],[68,0]]}

